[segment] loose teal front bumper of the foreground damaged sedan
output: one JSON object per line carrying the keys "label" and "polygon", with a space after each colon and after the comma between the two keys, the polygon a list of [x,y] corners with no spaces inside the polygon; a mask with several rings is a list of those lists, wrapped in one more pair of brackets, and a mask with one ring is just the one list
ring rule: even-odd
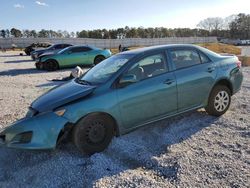
{"label": "loose teal front bumper of the foreground damaged sedan", "polygon": [[68,120],[54,112],[24,118],[0,132],[0,146],[20,149],[54,149]]}

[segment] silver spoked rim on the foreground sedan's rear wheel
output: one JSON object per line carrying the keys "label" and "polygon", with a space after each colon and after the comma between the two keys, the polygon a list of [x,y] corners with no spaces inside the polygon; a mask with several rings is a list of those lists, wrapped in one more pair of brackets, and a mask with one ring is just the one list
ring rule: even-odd
{"label": "silver spoked rim on the foreground sedan's rear wheel", "polygon": [[229,104],[229,95],[226,91],[220,91],[214,100],[214,107],[218,112],[224,111]]}

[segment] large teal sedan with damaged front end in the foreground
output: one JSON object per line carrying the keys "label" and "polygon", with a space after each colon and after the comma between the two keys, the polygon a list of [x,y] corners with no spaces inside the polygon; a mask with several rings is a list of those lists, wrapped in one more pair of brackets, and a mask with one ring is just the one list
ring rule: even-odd
{"label": "large teal sedan with damaged front end in the foreground", "polygon": [[187,111],[223,115],[242,79],[236,56],[194,45],[123,52],[36,99],[0,143],[52,149],[69,137],[80,151],[101,152],[114,136]]}

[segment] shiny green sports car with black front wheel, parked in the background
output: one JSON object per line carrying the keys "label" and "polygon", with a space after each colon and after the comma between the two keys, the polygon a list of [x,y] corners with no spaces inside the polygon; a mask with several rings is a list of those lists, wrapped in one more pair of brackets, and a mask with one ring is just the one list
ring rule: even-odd
{"label": "shiny green sports car with black front wheel, parked in the background", "polygon": [[36,59],[36,68],[55,71],[60,68],[96,65],[111,56],[108,49],[90,46],[70,46],[56,54],[44,53]]}

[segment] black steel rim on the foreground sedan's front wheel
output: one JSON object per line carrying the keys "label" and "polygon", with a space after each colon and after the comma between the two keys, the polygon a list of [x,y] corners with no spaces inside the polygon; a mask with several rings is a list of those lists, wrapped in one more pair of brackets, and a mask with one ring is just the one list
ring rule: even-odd
{"label": "black steel rim on the foreground sedan's front wheel", "polygon": [[92,144],[101,143],[106,136],[105,126],[101,122],[93,122],[87,129],[87,141]]}

